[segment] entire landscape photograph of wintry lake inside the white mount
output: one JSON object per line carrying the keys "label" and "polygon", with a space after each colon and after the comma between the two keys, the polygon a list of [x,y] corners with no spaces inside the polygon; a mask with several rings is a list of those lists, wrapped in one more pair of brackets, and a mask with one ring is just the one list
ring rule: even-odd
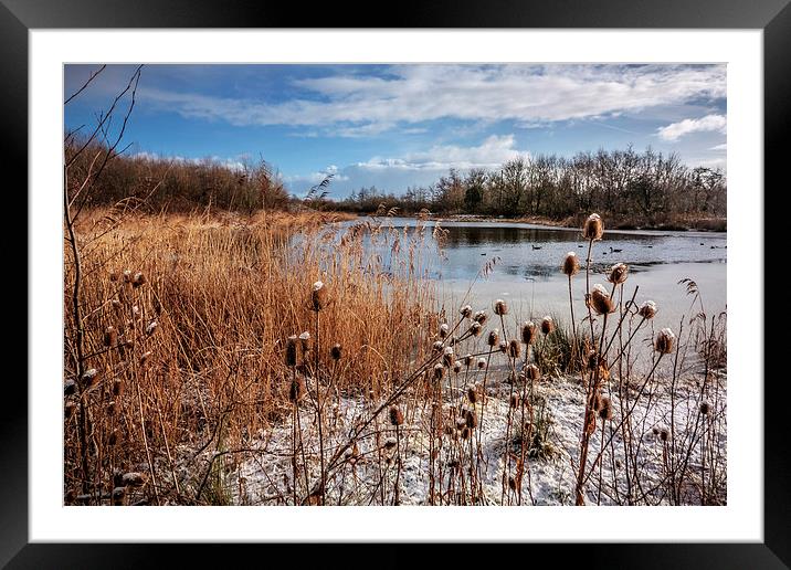
{"label": "entire landscape photograph of wintry lake inside the white mount", "polygon": [[727,78],[64,63],[63,506],[728,506]]}

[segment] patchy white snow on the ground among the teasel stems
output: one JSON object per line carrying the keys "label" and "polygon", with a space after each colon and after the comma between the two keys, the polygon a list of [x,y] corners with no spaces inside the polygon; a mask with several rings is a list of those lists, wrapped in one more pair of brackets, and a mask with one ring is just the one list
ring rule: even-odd
{"label": "patchy white snow on the ground among the teasel stems", "polygon": [[[464,373],[460,374],[458,383],[463,382]],[[479,428],[474,430],[473,457],[477,461],[477,445],[481,443],[479,479],[483,498],[476,504],[500,505],[503,503],[503,469],[505,451],[505,432],[509,412],[508,399],[511,386],[498,378],[507,374],[489,372],[485,407],[481,398],[475,404],[478,419],[483,419]],[[471,372],[466,384],[481,383],[483,372]],[[650,381],[636,400],[631,416],[632,451],[630,456],[636,457],[633,471],[639,473],[639,481],[631,481],[633,503],[642,505],[669,504],[664,473],[666,462],[677,457],[677,462],[686,460],[687,479],[692,485],[685,487],[685,499],[682,503],[699,504],[697,482],[702,474],[710,477],[710,465],[716,464],[716,473],[726,473],[726,422],[725,422],[725,379],[720,378],[719,393],[707,393],[706,401],[713,410],[707,416],[699,413],[699,388],[695,381],[678,382],[673,392],[667,381]],[[443,421],[451,423],[453,411],[461,405],[472,408],[463,397],[464,386],[452,390],[447,380],[443,389]],[[624,411],[635,403],[637,388],[642,379],[634,381],[629,398],[624,398]],[[515,390],[521,390],[516,386]],[[709,390],[711,390],[709,388]],[[589,471],[591,475],[586,485],[586,504],[626,504],[627,462],[624,452],[622,432],[619,428],[623,412],[622,402],[618,397],[618,388],[610,386],[604,395],[613,399],[614,416],[607,422],[604,441],[612,434],[612,445],[604,448],[601,457]],[[675,408],[672,402],[675,399]],[[714,398],[714,399],[713,399]],[[538,457],[528,457],[521,481],[523,505],[573,505],[577,469],[580,453],[582,419],[584,414],[584,393],[579,380],[550,379],[535,384],[536,429],[545,428],[546,437],[541,448],[546,452]],[[462,402],[463,401],[463,402]],[[331,455],[350,441],[349,436],[357,428],[370,419],[371,412],[379,408],[381,400],[371,401],[362,397],[340,397],[328,399],[323,403],[325,416],[325,462],[330,463]],[[404,423],[397,434],[389,423],[386,408],[371,421],[357,440],[357,451],[349,447],[339,455],[327,482],[327,504],[333,505],[391,505],[394,503],[396,483],[398,477],[399,503],[402,505],[430,504],[430,446],[431,446],[431,400],[425,392],[405,394],[399,401],[404,412]],[[544,409],[546,423],[539,422],[539,410]],[[672,414],[672,410],[673,414]],[[672,416],[673,415],[673,416]],[[529,416],[529,414],[528,414]],[[297,500],[308,503],[305,489],[317,489],[319,482],[318,436],[315,421],[315,408],[310,399],[303,401],[299,408],[299,425],[304,443],[308,473],[307,485],[303,468],[302,451],[297,452]],[[511,451],[515,457],[520,456],[520,444],[514,433],[520,424],[520,409],[514,412],[511,428]],[[601,420],[591,436],[588,465],[592,465],[601,452]],[[675,430],[668,442],[664,443],[655,431]],[[293,421],[260,433],[254,439],[250,453],[238,457],[230,473],[225,475],[225,485],[231,492],[233,504],[241,505],[285,505],[294,504],[294,467],[292,463]],[[714,445],[707,455],[706,469],[702,466],[702,440],[704,425],[706,440]],[[614,430],[618,431],[615,432]],[[437,428],[442,430],[442,428]],[[614,432],[614,433],[613,433]],[[471,504],[470,498],[470,442],[461,439],[461,432],[450,431],[442,437],[442,447],[436,455],[435,473],[441,469],[442,484],[435,481],[434,503]],[[398,437],[397,437],[398,435]],[[440,440],[435,437],[435,442]],[[455,443],[453,443],[455,441]],[[692,443],[690,443],[692,442]],[[674,453],[675,447],[675,453]],[[614,451],[614,454],[613,454]],[[204,452],[210,456],[210,452]],[[462,457],[462,468],[454,469],[454,462]],[[399,457],[401,468],[398,469]],[[601,475],[599,472],[601,468]],[[226,469],[228,471],[228,469]],[[451,476],[453,473],[453,476]],[[515,460],[510,462],[508,475],[515,475]],[[460,474],[464,483],[460,481]],[[601,479],[600,479],[601,477]],[[439,478],[439,477],[437,477]],[[633,478],[633,477],[632,477]],[[601,485],[599,482],[601,481]],[[452,482],[452,485],[451,485]],[[507,478],[506,478],[507,482]],[[450,487],[453,492],[449,492]],[[723,481],[723,487],[725,481]],[[440,499],[440,487],[443,498]],[[460,490],[464,488],[464,494]],[[601,492],[599,490],[601,488]],[[724,502],[723,497],[718,500]],[[315,498],[314,498],[315,502]],[[505,504],[517,504],[517,494],[507,493]]]}

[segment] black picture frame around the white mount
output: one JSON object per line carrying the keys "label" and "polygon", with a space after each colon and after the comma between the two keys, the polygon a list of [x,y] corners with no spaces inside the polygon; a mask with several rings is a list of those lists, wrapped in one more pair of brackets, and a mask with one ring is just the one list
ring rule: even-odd
{"label": "black picture frame around the white mount", "polygon": [[[561,0],[555,2],[399,2],[387,8],[372,4],[297,4],[256,0],[0,0],[0,81],[3,84],[2,157],[8,165],[25,163],[28,154],[28,32],[31,29],[70,28],[645,28],[645,29],[762,29],[764,81],[764,189],[788,192],[781,182],[783,142],[791,127],[791,0]],[[348,14],[355,13],[357,17]],[[377,18],[372,14],[381,13]],[[785,159],[787,160],[787,159]],[[27,181],[27,169],[20,184]],[[28,210],[28,214],[31,212]],[[764,260],[767,260],[764,254]],[[27,266],[27,261],[22,266]],[[21,271],[20,271],[21,273]],[[27,273],[25,273],[27,275]],[[762,276],[760,282],[763,283]],[[28,296],[28,304],[35,299]],[[763,317],[763,307],[760,307]],[[763,319],[761,318],[763,323]],[[742,331],[742,334],[745,334]],[[27,335],[25,335],[27,338]],[[767,335],[764,338],[769,339]],[[777,342],[778,340],[773,340]],[[764,348],[764,355],[767,353]],[[770,350],[768,353],[772,353]],[[54,357],[53,357],[54,358]],[[763,381],[764,371],[752,379]],[[784,419],[787,380],[764,382],[764,503],[762,543],[650,543],[650,545],[535,545],[535,555],[560,557],[565,563],[611,568],[789,568],[791,564],[791,490],[789,437]],[[758,384],[757,384],[758,386]],[[10,395],[12,391],[18,393]],[[253,546],[229,549],[209,545],[43,545],[29,543],[28,496],[28,389],[8,377],[0,413],[0,564],[8,568],[140,568],[166,563],[168,555],[179,566],[192,560],[229,566],[233,557],[256,556]],[[321,558],[342,566],[365,562],[345,557],[340,545],[325,545]],[[273,548],[266,546],[263,548]],[[178,552],[170,550],[178,549]],[[556,549],[551,553],[551,549]],[[396,546],[377,555],[380,563],[396,566]],[[541,551],[541,550],[546,550]],[[270,550],[268,556],[281,556]],[[464,560],[474,553],[465,551]],[[458,560],[461,563],[462,561]],[[264,561],[262,560],[262,563]],[[400,566],[400,564],[399,564]]]}

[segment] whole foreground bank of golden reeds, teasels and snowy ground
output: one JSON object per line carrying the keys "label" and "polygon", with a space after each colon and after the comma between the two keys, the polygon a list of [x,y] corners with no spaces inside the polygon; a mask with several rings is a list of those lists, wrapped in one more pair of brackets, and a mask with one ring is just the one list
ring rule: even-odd
{"label": "whole foreground bank of golden reeds, teasels and snowy ground", "polygon": [[528,323],[445,306],[422,223],[334,221],[81,219],[66,504],[726,502],[726,319],[694,282],[689,317],[655,330],[627,266],[594,283],[591,215],[586,258],[558,260],[569,314]]}

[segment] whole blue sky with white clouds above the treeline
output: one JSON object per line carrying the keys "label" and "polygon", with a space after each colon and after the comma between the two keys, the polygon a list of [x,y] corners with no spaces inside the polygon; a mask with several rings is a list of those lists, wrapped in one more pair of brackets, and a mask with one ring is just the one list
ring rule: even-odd
{"label": "whole blue sky with white clouds above the treeline", "polygon": [[[74,93],[98,65],[66,65]],[[91,125],[135,66],[109,65],[65,107]],[[126,104],[127,102],[125,102]],[[725,65],[146,65],[128,154],[239,166],[263,158],[303,194],[402,192],[450,168],[651,146],[725,170]]]}

